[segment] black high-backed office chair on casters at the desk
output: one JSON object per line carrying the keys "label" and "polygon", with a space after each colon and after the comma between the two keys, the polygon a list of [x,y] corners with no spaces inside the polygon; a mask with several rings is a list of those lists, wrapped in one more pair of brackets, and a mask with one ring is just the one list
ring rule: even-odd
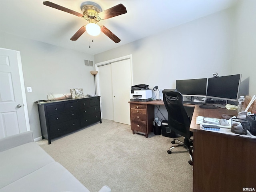
{"label": "black high-backed office chair on casters at the desk", "polygon": [[174,139],[171,143],[175,144],[177,142],[178,145],[171,146],[167,152],[171,154],[173,148],[184,146],[188,150],[191,158],[188,163],[193,165],[193,140],[190,139],[192,132],[189,130],[191,121],[183,106],[183,96],[176,90],[164,89],[163,100],[168,112],[169,128],[176,134],[184,137],[184,142]]}

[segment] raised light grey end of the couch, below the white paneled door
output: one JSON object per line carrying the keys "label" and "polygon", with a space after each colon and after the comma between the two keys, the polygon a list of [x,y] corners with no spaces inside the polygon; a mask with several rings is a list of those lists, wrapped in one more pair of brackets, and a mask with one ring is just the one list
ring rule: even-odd
{"label": "raised light grey end of the couch, below the white paneled door", "polygon": [[25,143],[33,142],[32,131],[23,132],[20,134],[8,136],[0,139],[0,152],[14,148]]}

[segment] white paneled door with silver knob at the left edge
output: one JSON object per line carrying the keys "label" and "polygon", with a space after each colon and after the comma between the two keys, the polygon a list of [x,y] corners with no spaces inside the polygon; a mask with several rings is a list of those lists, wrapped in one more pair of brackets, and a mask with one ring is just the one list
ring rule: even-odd
{"label": "white paneled door with silver knob at the left edge", "polygon": [[20,52],[0,48],[0,138],[28,130]]}

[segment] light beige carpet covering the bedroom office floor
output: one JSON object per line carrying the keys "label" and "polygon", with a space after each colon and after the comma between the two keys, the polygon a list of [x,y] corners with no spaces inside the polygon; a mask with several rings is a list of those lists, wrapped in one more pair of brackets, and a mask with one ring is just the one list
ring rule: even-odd
{"label": "light beige carpet covering the bedroom office floor", "polygon": [[129,125],[102,119],[82,130],[37,143],[90,192],[108,185],[112,192],[192,192],[190,156],[172,138],[132,134]]}

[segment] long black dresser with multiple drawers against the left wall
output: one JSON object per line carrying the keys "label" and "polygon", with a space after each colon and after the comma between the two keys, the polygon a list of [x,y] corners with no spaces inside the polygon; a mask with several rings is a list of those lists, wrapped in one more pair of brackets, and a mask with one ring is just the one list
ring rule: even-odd
{"label": "long black dresser with multiple drawers against the left wall", "polygon": [[56,100],[38,104],[42,139],[51,139],[74,132],[101,121],[100,96]]}

